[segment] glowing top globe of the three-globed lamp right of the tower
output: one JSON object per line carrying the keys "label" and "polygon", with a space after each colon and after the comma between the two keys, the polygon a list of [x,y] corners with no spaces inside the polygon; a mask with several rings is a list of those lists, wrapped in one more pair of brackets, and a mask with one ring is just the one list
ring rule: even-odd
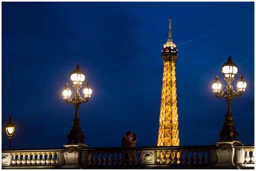
{"label": "glowing top globe of the three-globed lamp right of the tower", "polygon": [[232,62],[231,56],[229,56],[228,61],[223,64],[221,72],[226,80],[234,80],[238,69],[236,64]]}

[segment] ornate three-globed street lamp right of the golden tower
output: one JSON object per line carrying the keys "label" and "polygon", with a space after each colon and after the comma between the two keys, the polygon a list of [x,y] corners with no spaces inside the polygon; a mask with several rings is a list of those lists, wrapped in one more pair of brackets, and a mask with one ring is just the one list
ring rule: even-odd
{"label": "ornate three-globed street lamp right of the golden tower", "polygon": [[215,77],[215,80],[212,83],[212,91],[215,96],[219,98],[224,97],[227,102],[227,114],[225,115],[225,122],[223,123],[222,130],[220,131],[220,140],[238,141],[238,132],[236,131],[235,124],[233,122],[233,115],[231,113],[230,105],[234,97],[239,97],[243,95],[246,88],[246,83],[243,76],[241,75],[240,79],[236,84],[237,91],[233,89],[231,83],[235,79],[238,69],[230,56],[228,57],[228,61],[223,64],[221,71],[223,78],[227,82],[225,91],[222,91],[222,85],[219,81],[218,76]]}

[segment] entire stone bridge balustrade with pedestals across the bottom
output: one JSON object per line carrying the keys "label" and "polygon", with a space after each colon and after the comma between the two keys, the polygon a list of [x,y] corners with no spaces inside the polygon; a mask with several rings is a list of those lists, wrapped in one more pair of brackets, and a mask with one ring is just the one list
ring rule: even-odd
{"label": "entire stone bridge balustrade with pedestals across the bottom", "polygon": [[254,146],[155,146],[3,150],[3,169],[24,168],[253,168]]}

